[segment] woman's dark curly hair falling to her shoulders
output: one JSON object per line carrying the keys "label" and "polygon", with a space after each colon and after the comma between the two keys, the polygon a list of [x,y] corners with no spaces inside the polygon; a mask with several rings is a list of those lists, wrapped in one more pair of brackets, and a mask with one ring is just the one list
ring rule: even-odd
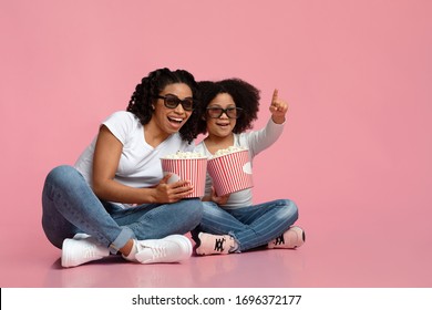
{"label": "woman's dark curly hair falling to her shoulders", "polygon": [[[198,103],[198,89],[194,75],[185,70],[171,71],[167,68],[155,70],[148,73],[136,85],[134,93],[128,102],[127,112],[132,112],[145,125],[152,120],[154,110],[152,104],[157,100],[156,96],[169,84],[184,83],[189,86],[194,97],[195,105]],[[189,144],[196,138],[196,126],[198,121],[197,106],[195,106],[187,122],[179,130],[182,140]]]}

